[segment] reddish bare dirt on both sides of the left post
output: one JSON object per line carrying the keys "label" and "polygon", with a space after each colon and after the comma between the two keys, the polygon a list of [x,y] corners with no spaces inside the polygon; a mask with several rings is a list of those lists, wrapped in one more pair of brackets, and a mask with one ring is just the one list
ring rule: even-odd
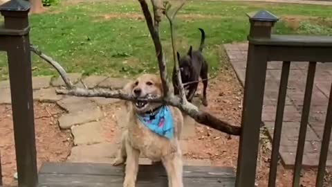
{"label": "reddish bare dirt on both sides of the left post", "polygon": [[[62,110],[55,104],[35,103],[35,137],[38,168],[45,161],[65,161],[73,145],[71,133],[60,131],[57,117]],[[0,150],[4,184],[15,184],[15,144],[10,105],[0,105]]]}

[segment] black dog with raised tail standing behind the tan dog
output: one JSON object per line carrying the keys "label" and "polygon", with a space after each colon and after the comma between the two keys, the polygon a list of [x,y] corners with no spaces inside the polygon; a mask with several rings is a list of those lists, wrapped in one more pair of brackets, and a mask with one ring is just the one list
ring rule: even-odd
{"label": "black dog with raised tail standing behind the tan dog", "polygon": [[[178,55],[183,84],[193,82],[185,85],[185,89],[189,90],[187,100],[191,102],[199,85],[199,77],[201,77],[204,86],[202,103],[204,106],[208,106],[208,100],[206,99],[206,88],[208,87],[208,63],[205,61],[202,53],[205,33],[202,28],[199,28],[199,30],[201,30],[201,44],[199,46],[199,50],[192,51],[192,46],[190,46],[187,55],[180,57],[178,52],[176,52],[176,54]],[[178,82],[176,81],[175,67],[173,69],[172,81],[174,86],[174,94],[178,95]]]}

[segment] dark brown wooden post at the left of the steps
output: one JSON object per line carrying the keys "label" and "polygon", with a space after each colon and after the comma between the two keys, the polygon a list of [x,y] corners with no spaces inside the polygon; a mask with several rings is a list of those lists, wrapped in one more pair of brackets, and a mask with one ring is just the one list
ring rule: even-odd
{"label": "dark brown wooden post at the left of the steps", "polygon": [[0,6],[5,26],[0,42],[8,54],[12,120],[19,187],[37,186],[35,123],[31,77],[28,12],[30,3],[12,0]]}

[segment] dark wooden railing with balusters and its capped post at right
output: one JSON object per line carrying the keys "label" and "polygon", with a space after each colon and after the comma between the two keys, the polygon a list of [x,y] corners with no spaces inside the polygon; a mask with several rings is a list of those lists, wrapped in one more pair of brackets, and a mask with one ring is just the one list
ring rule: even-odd
{"label": "dark wooden railing with balusters and its capped post at right", "polygon": [[[269,187],[276,186],[279,145],[291,62],[309,63],[293,174],[293,187],[297,187],[299,186],[300,171],[302,169],[315,67],[317,62],[332,62],[332,37],[271,35],[271,30],[277,21],[277,17],[264,10],[248,16],[250,19],[250,35],[248,36],[248,59],[236,186],[255,186],[266,70],[268,62],[279,61],[282,63],[282,73],[273,134],[273,150],[270,160]],[[329,152],[332,127],[332,90],[330,92],[316,180],[317,187],[323,185],[326,159]]]}

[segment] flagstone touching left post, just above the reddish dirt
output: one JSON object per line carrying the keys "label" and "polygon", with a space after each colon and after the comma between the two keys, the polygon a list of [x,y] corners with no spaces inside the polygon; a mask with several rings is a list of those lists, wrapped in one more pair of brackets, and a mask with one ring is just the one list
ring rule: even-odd
{"label": "flagstone touching left post, just above the reddish dirt", "polygon": [[55,92],[55,88],[39,89],[33,93],[33,99],[40,102],[56,102],[62,98],[62,95]]}

